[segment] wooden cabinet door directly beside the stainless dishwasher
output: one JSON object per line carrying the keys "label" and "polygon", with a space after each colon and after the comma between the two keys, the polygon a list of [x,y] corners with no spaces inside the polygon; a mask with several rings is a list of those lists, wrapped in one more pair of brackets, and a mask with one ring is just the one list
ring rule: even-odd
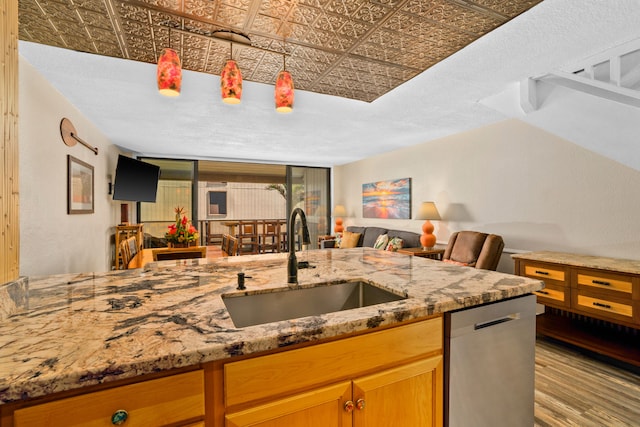
{"label": "wooden cabinet door directly beside the stainless dishwasher", "polygon": [[442,370],[436,356],[354,380],[354,426],[441,426]]}

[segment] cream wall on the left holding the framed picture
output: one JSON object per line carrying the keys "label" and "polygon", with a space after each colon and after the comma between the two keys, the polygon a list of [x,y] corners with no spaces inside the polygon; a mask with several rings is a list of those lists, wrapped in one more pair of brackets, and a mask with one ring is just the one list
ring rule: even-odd
{"label": "cream wall on the left holding the framed picture", "polygon": [[[118,150],[22,57],[19,67],[20,275],[109,270],[120,205],[108,195],[108,176]],[[97,156],[62,142],[64,117]],[[93,214],[67,214],[68,154],[94,167]]]}

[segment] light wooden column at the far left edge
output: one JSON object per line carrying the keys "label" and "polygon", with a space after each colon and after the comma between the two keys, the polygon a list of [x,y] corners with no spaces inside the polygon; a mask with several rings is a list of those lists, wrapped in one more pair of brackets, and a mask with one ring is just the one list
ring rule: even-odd
{"label": "light wooden column at the far left edge", "polygon": [[0,8],[0,284],[18,278],[20,267],[20,194],[18,183],[18,0],[2,0]]}

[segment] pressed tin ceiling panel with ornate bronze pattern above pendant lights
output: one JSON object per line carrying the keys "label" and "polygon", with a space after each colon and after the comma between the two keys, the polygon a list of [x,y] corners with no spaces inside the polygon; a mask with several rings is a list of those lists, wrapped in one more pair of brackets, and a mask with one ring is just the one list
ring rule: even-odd
{"label": "pressed tin ceiling panel with ornate bronze pattern above pendant lights", "polygon": [[[219,75],[233,44],[248,81],[373,101],[542,0],[19,0],[20,39]],[[255,48],[254,48],[255,47]],[[257,49],[256,49],[257,48]]]}

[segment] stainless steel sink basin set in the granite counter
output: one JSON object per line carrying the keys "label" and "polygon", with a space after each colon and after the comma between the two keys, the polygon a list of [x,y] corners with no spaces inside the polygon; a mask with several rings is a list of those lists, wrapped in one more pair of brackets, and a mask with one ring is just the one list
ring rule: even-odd
{"label": "stainless steel sink basin set in the granite counter", "polygon": [[269,293],[223,295],[237,328],[317,316],[406,297],[363,280],[320,284],[312,288],[283,289]]}

